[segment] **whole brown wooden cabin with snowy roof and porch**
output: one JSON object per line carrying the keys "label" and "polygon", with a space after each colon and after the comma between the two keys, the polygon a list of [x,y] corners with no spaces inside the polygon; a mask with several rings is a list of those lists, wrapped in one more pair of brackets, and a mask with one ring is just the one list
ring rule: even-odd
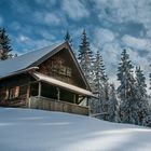
{"label": "whole brown wooden cabin with snowy roof and porch", "polygon": [[0,61],[0,106],[86,115],[93,96],[68,42]]}

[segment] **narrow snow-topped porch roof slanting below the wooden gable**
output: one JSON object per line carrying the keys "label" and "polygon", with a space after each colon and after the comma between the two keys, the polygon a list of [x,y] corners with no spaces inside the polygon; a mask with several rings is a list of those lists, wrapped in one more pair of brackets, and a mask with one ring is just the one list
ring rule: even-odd
{"label": "narrow snow-topped porch roof slanting below the wooden gable", "polygon": [[86,91],[84,88],[81,88],[81,87],[65,83],[65,82],[61,82],[61,81],[56,80],[54,78],[47,77],[45,74],[42,74],[42,73],[39,73],[39,72],[33,72],[32,76],[38,81],[43,81],[43,82],[46,82],[46,83],[50,83],[50,84],[53,84],[53,85],[56,85],[56,86],[60,86],[63,88],[70,90],[71,92],[76,92],[76,93],[84,95],[84,96],[93,96],[93,97],[95,97],[93,95],[93,93],[90,92],[90,91]]}

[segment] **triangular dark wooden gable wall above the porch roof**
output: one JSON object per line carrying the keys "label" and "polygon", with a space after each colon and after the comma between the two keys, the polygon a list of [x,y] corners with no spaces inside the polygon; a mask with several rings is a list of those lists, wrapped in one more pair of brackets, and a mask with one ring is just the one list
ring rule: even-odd
{"label": "triangular dark wooden gable wall above the porch roof", "polygon": [[86,88],[67,49],[63,49],[39,65],[38,71],[66,83]]}

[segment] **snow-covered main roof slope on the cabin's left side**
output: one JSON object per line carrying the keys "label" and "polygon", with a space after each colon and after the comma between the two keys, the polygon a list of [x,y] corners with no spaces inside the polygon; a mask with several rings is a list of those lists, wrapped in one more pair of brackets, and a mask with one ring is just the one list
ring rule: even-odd
{"label": "snow-covered main roof slope on the cabin's left side", "polygon": [[22,56],[6,59],[6,60],[1,60],[0,61],[0,78],[6,77],[12,74],[13,72],[23,70],[37,60],[39,60],[41,57],[45,56],[47,53],[59,46],[61,43],[56,43],[50,46],[45,46],[43,49],[29,52],[27,54],[24,54]]}

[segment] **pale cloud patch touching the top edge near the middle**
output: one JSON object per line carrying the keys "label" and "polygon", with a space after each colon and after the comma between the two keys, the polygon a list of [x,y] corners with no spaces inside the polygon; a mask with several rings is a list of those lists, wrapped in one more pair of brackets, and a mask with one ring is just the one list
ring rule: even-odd
{"label": "pale cloud patch touching the top edge near the middle", "polygon": [[63,10],[74,20],[79,20],[90,15],[88,10],[86,10],[86,6],[84,6],[80,0],[64,0]]}

